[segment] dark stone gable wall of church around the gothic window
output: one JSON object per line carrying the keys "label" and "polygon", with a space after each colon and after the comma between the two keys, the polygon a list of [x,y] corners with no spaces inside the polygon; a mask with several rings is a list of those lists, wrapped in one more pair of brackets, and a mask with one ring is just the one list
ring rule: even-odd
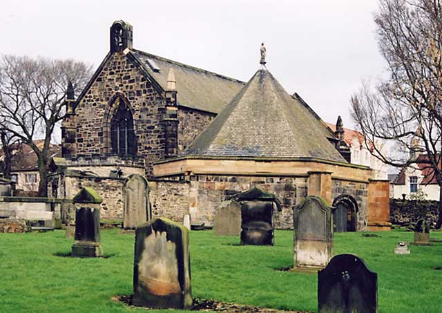
{"label": "dark stone gable wall of church around the gothic window", "polygon": [[[165,102],[123,53],[114,53],[75,109],[77,155],[110,152],[110,133],[115,95],[123,95],[133,113],[137,155],[146,159],[146,173],[164,159]],[[118,100],[117,100],[118,101]]]}

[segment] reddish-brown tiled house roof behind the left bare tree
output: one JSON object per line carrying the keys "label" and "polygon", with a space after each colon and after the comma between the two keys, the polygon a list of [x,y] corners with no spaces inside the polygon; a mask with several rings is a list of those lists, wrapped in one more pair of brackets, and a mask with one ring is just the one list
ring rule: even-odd
{"label": "reddish-brown tiled house roof behind the left bare tree", "polygon": [[[37,146],[43,146],[44,140],[34,140]],[[50,144],[48,159],[61,156],[59,144]],[[0,161],[3,161],[3,151],[0,151]],[[31,171],[38,170],[37,155],[28,144],[15,144],[12,150],[11,160],[12,171]]]}

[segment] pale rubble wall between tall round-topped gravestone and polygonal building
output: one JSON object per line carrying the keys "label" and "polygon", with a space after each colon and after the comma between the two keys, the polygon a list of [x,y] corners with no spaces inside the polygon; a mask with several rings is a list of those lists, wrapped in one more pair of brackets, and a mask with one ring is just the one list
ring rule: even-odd
{"label": "pale rubble wall between tall round-topped gravestone and polygonal building", "polygon": [[152,218],[182,223],[184,214],[189,214],[189,182],[157,180],[149,181],[148,187]]}

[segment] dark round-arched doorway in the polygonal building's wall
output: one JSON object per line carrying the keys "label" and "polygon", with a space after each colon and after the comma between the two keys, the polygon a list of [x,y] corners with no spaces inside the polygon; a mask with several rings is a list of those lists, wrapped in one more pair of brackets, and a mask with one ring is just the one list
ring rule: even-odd
{"label": "dark round-arched doorway in the polygonal building's wall", "polygon": [[358,203],[352,196],[342,194],[333,201],[334,232],[356,231]]}

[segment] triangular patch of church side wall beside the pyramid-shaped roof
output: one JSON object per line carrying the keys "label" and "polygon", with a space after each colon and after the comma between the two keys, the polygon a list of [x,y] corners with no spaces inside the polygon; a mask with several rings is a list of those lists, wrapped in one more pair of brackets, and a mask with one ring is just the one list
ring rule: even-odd
{"label": "triangular patch of church side wall beside the pyramid-shaped roof", "polygon": [[[180,94],[178,94],[178,101]],[[200,135],[215,118],[214,113],[192,110],[180,106],[178,109],[178,151],[182,152]]]}

